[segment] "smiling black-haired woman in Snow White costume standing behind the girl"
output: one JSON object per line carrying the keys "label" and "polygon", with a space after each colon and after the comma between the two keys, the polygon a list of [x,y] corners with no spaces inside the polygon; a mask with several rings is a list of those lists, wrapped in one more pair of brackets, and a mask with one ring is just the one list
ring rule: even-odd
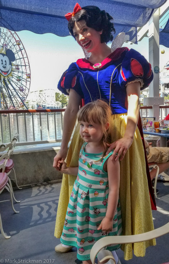
{"label": "smiling black-haired woman in Snow White costume standing behind the girl", "polygon": [[[106,45],[113,40],[115,32],[113,18],[96,6],[81,8],[76,4],[74,12],[65,15],[70,34],[84,49],[87,56],[70,64],[59,81],[58,89],[69,95],[69,102],[63,120],[61,149],[54,158],[53,167],[57,170],[58,161],[65,160],[67,166],[77,167],[79,151],[83,144],[79,125],[76,127],[67,154],[67,146],[73,131],[77,112],[81,104],[101,99],[112,110],[112,133],[110,148],[112,159],[120,160],[120,203],[123,235],[145,233],[154,229],[151,209],[156,210],[151,179],[146,167],[142,142],[142,124],[139,117],[140,90],[153,80],[151,65],[134,49],[120,47],[112,50]],[[91,56],[88,57],[88,53]],[[140,130],[140,131],[139,131]],[[117,155],[116,155],[117,153]],[[146,171],[148,176],[146,175]],[[67,205],[76,177],[63,174],[56,217],[55,236],[62,235]],[[122,245],[124,258],[144,256],[146,248],[155,245],[155,240]],[[67,252],[69,248],[60,252]],[[72,248],[72,247],[70,247]]]}

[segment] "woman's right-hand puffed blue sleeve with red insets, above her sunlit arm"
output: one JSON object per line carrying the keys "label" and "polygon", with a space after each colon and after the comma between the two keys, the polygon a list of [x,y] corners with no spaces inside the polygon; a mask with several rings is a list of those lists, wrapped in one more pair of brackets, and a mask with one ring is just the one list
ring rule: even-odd
{"label": "woman's right-hand puffed blue sleeve with red insets, above her sunlit arm", "polygon": [[151,64],[138,51],[130,49],[121,64],[120,86],[127,86],[131,82],[140,81],[141,90],[147,88],[153,80]]}

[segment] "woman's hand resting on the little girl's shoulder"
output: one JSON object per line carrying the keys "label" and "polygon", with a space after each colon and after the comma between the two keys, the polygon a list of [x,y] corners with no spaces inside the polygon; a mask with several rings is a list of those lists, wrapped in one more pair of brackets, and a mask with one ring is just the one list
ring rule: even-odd
{"label": "woman's hand resting on the little girl's shoulder", "polygon": [[109,154],[110,151],[114,149],[114,152],[111,156],[111,160],[117,161],[121,155],[120,161],[122,161],[122,159],[124,158],[124,155],[126,154],[127,150],[131,146],[132,142],[133,142],[133,139],[124,136],[122,139],[118,139],[115,142],[108,145],[109,149],[106,151],[106,155]]}

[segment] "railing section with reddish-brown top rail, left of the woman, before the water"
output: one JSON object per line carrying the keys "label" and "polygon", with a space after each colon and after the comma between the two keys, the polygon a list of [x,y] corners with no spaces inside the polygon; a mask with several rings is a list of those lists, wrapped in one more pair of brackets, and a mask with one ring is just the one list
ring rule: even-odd
{"label": "railing section with reddish-brown top rail, left of the woman, before the water", "polygon": [[62,141],[65,109],[1,110],[0,143],[8,143],[18,132],[17,146]]}

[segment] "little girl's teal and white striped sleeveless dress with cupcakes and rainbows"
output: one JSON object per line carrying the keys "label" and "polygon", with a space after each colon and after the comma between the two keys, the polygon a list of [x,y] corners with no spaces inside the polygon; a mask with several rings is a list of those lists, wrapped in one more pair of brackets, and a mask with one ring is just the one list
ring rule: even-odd
{"label": "little girl's teal and white striped sleeveless dress with cupcakes and rainbows", "polygon": [[[103,165],[113,150],[102,157],[103,153],[86,153],[85,146],[86,143],[80,151],[78,175],[60,238],[63,244],[77,247],[77,259],[80,260],[90,259],[91,248],[100,238],[122,234],[120,200],[113,219],[113,231],[107,234],[97,230],[106,215],[109,196],[108,175]],[[106,248],[115,250],[120,248],[120,245],[109,245]]]}

